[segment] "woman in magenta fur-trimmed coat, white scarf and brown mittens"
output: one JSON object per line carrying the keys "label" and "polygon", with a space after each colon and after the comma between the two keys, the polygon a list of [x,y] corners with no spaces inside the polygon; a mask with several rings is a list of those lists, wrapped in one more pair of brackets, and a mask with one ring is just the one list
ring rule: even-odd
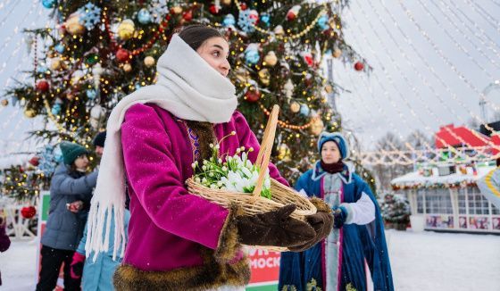
{"label": "woman in magenta fur-trimmed coat, white scarf and brown mittens", "polygon": [[[158,60],[156,84],[125,97],[110,116],[86,249],[104,251],[103,238],[124,243],[120,220],[127,185],[129,241],[114,275],[118,290],[244,289],[250,270],[240,244],[301,249],[331,229],[328,207],[312,215],[314,223],[289,217],[293,204],[242,216],[238,205],[225,209],[187,192],[191,164],[208,158],[209,145],[221,137],[236,132],[222,141],[221,153],[254,147],[249,156],[254,162],[259,150],[235,111],[228,55],[229,45],[217,30],[183,29]],[[269,170],[287,185],[274,165]],[[113,237],[103,229],[103,213],[111,209],[117,221]]]}

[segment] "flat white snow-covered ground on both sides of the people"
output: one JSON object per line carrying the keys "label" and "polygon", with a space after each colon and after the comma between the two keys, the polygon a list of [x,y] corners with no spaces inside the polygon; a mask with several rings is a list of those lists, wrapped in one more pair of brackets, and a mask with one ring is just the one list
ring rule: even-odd
{"label": "flat white snow-covered ground on both sides of the people", "polygon": [[[389,230],[387,241],[397,291],[500,290],[500,236]],[[34,290],[36,245],[0,254],[0,290]]]}

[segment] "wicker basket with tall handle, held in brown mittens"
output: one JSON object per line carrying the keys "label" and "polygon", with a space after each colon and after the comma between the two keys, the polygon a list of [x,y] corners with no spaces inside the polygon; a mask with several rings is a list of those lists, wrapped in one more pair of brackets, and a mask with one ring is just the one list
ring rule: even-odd
{"label": "wicker basket with tall handle, held in brown mittens", "polygon": [[[267,169],[269,166],[274,134],[276,132],[276,125],[278,124],[278,113],[279,106],[274,105],[262,137],[262,144],[259,154],[257,155],[257,160],[255,161],[255,164],[259,165],[261,169]],[[260,193],[266,172],[266,170],[261,170],[253,193],[238,193],[228,192],[221,189],[211,189],[197,183],[195,179],[187,179],[186,184],[189,193],[204,197],[205,199],[216,204],[220,204],[226,208],[229,208],[230,204],[239,204],[242,206],[243,211],[248,215],[269,212],[287,204],[296,204],[296,211],[291,214],[291,217],[297,220],[304,220],[306,215],[316,213],[316,207],[309,201],[309,199],[298,194],[293,188],[284,186],[275,179],[271,179],[272,198],[268,199],[262,197]],[[275,252],[287,251],[286,247],[279,246],[251,246]]]}

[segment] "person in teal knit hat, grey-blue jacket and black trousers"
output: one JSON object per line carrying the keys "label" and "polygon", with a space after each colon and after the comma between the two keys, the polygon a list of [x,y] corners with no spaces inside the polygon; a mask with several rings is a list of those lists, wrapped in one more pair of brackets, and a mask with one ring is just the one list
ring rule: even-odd
{"label": "person in teal knit hat, grey-blue jacket and black trousers", "polygon": [[41,239],[42,262],[37,290],[53,290],[64,262],[64,290],[79,290],[81,279],[71,278],[71,259],[87,222],[88,205],[96,186],[97,170],[87,173],[87,150],[63,142],[63,163],[50,186],[50,209]]}

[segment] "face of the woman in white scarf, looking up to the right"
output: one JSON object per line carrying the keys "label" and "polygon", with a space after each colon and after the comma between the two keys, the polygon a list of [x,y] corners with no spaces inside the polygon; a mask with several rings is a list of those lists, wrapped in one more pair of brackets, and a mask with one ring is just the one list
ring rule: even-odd
{"label": "face of the woman in white scarf, looking up to the right", "polygon": [[208,38],[198,47],[196,53],[200,54],[204,61],[208,62],[213,69],[220,72],[222,76],[228,76],[231,69],[228,62],[229,45],[224,38]]}

